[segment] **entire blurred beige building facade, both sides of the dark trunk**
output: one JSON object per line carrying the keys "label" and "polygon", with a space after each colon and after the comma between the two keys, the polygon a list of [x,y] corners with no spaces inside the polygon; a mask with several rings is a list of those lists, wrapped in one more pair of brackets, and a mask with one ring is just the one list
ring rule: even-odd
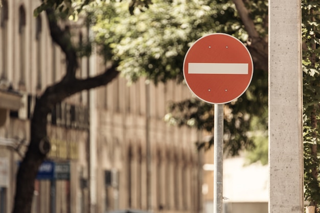
{"label": "entire blurred beige building facade, both sides of the dark trunk", "polygon": [[[12,209],[15,175],[30,139],[37,96],[59,81],[64,55],[52,41],[39,0],[2,0],[0,13],[0,213]],[[77,29],[79,41],[87,29]],[[104,69],[81,58],[78,77]],[[123,78],[82,91],[48,116],[52,149],[39,168],[32,212],[114,209],[201,212],[201,156],[194,130],[163,121],[169,101],[190,97],[174,82],[131,86]]]}

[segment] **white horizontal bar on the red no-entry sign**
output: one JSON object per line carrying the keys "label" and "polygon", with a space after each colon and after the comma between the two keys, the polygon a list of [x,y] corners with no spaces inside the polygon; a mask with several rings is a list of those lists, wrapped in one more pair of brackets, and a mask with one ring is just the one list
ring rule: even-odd
{"label": "white horizontal bar on the red no-entry sign", "polygon": [[189,74],[248,74],[247,63],[189,63]]}

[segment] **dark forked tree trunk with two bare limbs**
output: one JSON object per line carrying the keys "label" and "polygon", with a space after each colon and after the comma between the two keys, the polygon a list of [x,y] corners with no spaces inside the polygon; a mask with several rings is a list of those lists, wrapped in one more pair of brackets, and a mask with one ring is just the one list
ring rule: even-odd
{"label": "dark forked tree trunk with two bare limbs", "polygon": [[115,79],[119,72],[117,64],[107,67],[103,73],[87,79],[77,79],[78,67],[76,49],[70,34],[57,25],[54,11],[46,11],[52,39],[64,52],[67,67],[65,76],[60,82],[45,89],[36,101],[33,116],[30,121],[31,139],[25,157],[22,159],[16,176],[16,188],[12,213],[30,213],[34,193],[34,181],[38,168],[50,151],[50,141],[47,135],[47,116],[56,103],[82,90],[103,86]]}

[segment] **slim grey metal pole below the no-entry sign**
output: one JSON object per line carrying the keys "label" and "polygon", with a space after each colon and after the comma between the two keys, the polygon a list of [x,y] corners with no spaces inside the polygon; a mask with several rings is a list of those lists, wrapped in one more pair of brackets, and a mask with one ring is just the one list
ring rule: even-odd
{"label": "slim grey metal pole below the no-entry sign", "polygon": [[223,211],[223,106],[223,104],[214,105],[214,213]]}

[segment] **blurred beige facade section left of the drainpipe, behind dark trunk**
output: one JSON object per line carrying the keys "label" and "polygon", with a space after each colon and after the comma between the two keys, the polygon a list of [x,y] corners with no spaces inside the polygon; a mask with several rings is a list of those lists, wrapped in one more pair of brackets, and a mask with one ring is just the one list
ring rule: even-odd
{"label": "blurred beige facade section left of the drainpipe, behind dark trunk", "polygon": [[[15,176],[30,140],[36,96],[61,79],[64,56],[53,43],[38,0],[3,0],[0,15],[0,212],[11,212]],[[83,31],[85,33],[86,31]],[[84,34],[85,37],[85,34]],[[82,59],[86,67],[86,59]],[[86,69],[80,68],[82,76]],[[57,104],[48,116],[49,161],[70,164],[70,179],[35,181],[32,212],[88,212],[88,107],[84,91]],[[55,191],[52,191],[55,182]],[[58,211],[59,210],[59,211]]]}

